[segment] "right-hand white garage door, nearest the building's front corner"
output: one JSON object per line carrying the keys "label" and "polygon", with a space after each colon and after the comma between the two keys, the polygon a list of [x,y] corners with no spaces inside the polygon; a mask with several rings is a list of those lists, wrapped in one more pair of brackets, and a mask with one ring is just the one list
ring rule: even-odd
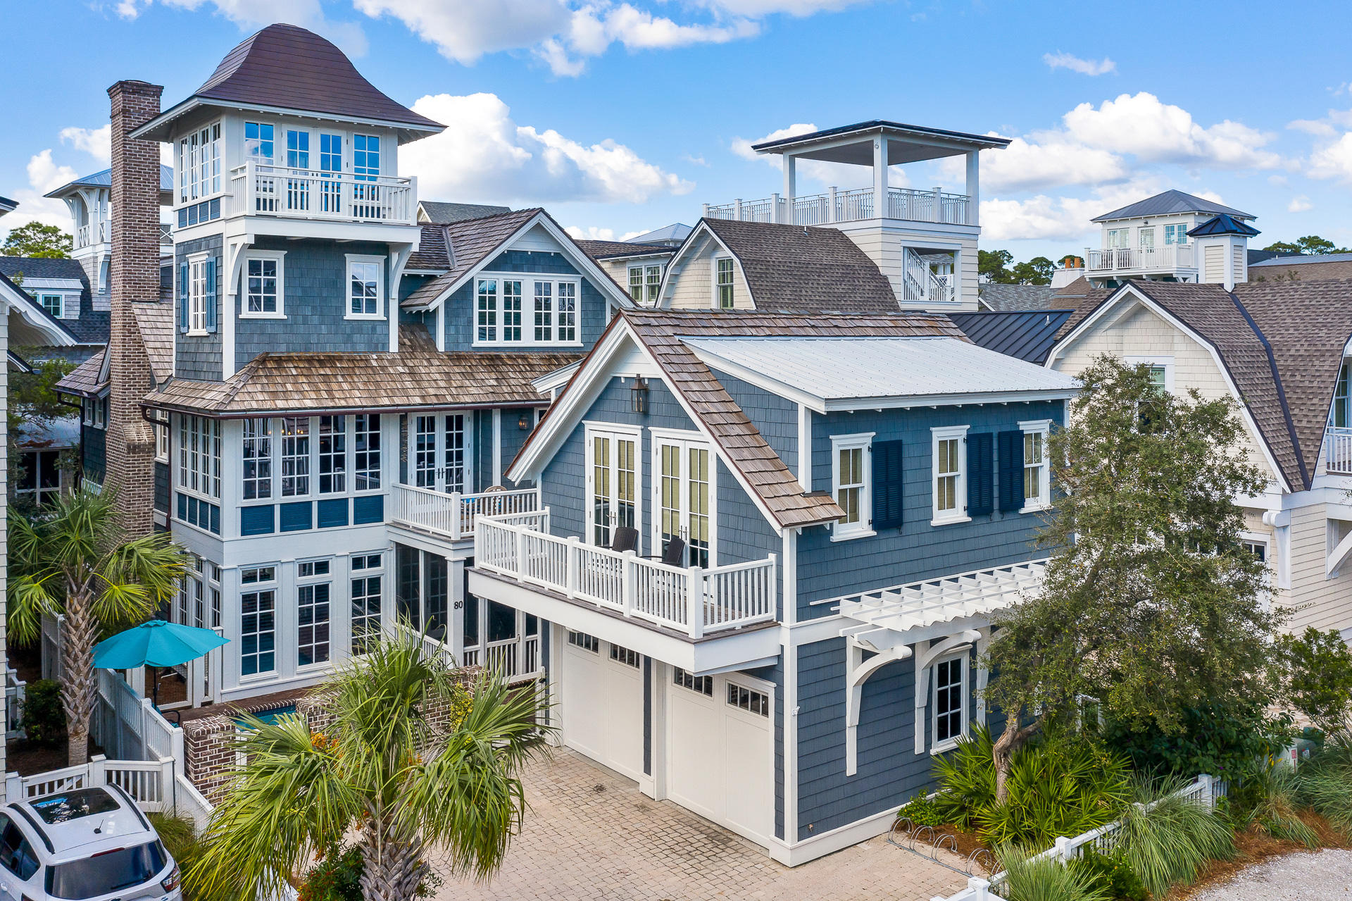
{"label": "right-hand white garage door, nearest the building's front corner", "polygon": [[673,668],[667,789],[681,806],[768,844],[775,824],[771,695],[753,685]]}

